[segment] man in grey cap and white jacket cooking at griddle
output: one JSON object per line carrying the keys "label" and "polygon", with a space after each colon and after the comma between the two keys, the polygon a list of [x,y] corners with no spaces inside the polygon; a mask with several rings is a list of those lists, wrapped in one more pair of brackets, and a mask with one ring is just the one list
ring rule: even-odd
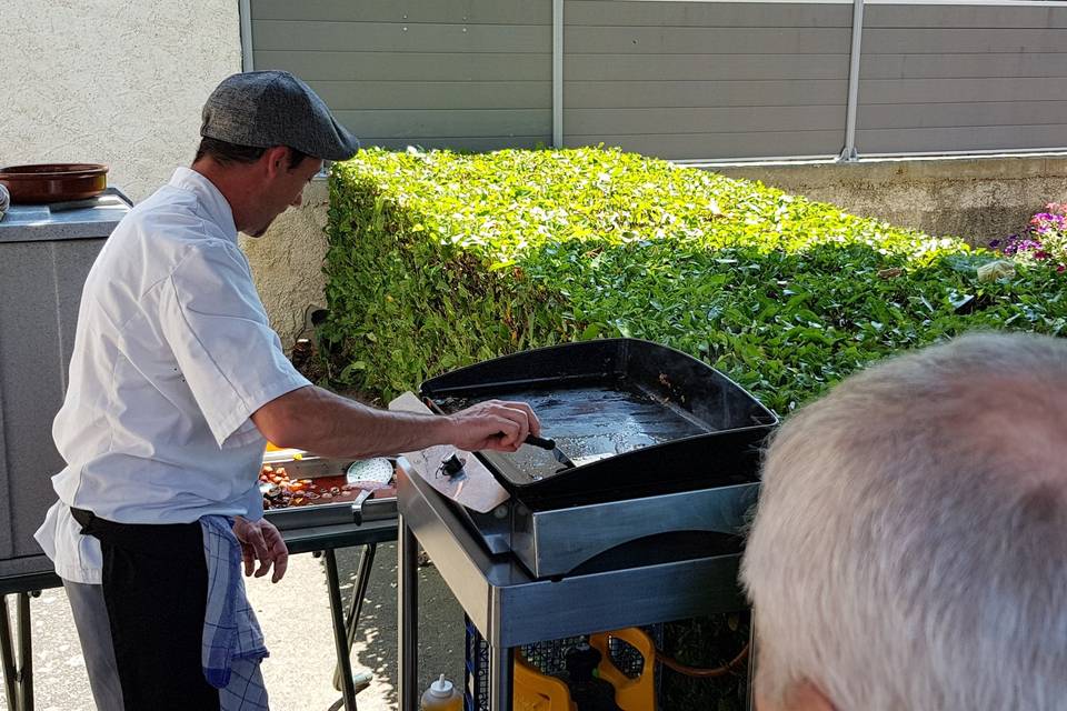
{"label": "man in grey cap and white jacket cooking at griddle", "polygon": [[191,168],[116,228],[82,293],[53,425],[67,468],[37,539],[74,613],[101,711],[266,709],[245,574],[286,571],[262,518],[269,439],[361,459],[433,444],[515,451],[523,403],[449,417],[371,409],[286,359],[237,233],[260,237],[323,159],[358,141],[303,82],[235,74],[203,107]]}

